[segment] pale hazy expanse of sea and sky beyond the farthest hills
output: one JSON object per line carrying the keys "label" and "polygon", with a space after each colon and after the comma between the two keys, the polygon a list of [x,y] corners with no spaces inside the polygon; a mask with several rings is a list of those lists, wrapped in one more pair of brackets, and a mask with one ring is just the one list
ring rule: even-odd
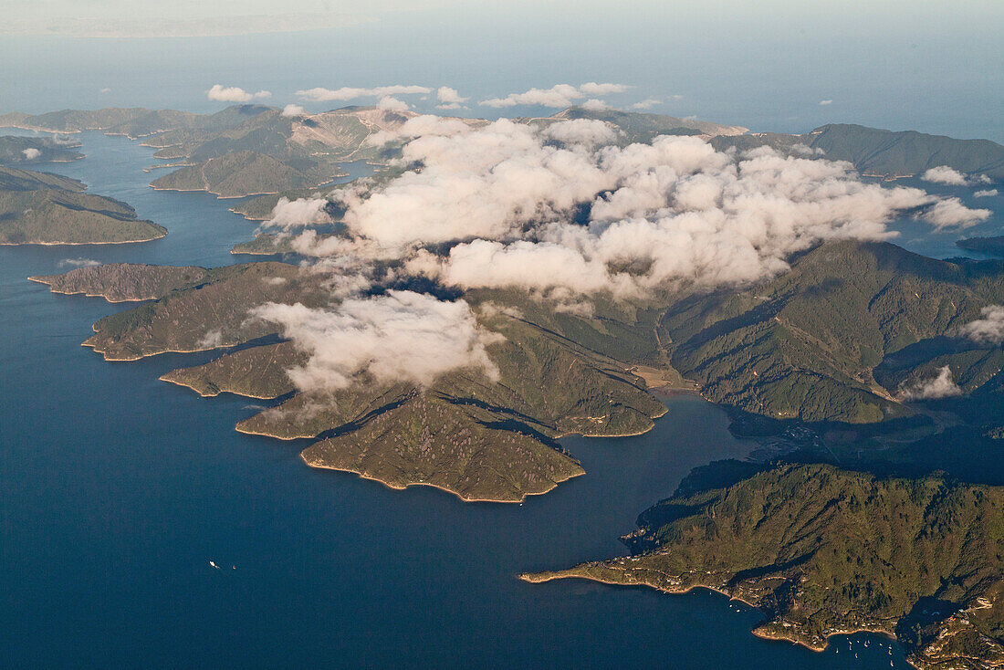
{"label": "pale hazy expanse of sea and sky beyond the farthest hills", "polygon": [[1002,28],[997,1],[7,0],[0,100],[212,111],[214,84],[279,105],[313,87],[422,84],[470,97],[456,114],[497,118],[547,109],[477,102],[610,81],[631,86],[611,104],[756,131],[847,122],[1004,142]]}

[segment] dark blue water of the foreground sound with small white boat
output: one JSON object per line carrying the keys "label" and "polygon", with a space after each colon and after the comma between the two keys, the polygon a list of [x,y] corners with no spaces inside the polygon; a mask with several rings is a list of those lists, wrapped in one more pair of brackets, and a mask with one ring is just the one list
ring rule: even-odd
{"label": "dark blue water of the foreground sound with small white boat", "polygon": [[81,349],[126,306],[26,276],[78,256],[229,263],[255,225],[230,201],[147,188],[150,150],[82,139],[85,160],[51,169],[170,234],[0,247],[0,667],[906,667],[866,636],[821,654],[756,639],[755,611],[707,592],[516,580],[622,553],[616,537],[692,467],[744,456],[698,398],[668,400],[641,437],[565,440],[587,474],[547,495],[471,504],[311,470],[303,444],[234,432],[246,399],[157,381],[197,357]]}

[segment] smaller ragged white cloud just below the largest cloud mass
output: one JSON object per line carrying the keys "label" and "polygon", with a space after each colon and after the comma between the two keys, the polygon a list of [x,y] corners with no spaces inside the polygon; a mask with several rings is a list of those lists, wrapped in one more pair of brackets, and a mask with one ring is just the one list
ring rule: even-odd
{"label": "smaller ragged white cloud just below the largest cloud mass", "polygon": [[460,368],[498,373],[485,345],[498,336],[483,330],[465,300],[438,300],[412,291],[349,298],[330,309],[268,303],[253,315],[278,323],[284,337],[309,356],[288,371],[298,389],[343,389],[361,375],[381,384],[431,385]]}

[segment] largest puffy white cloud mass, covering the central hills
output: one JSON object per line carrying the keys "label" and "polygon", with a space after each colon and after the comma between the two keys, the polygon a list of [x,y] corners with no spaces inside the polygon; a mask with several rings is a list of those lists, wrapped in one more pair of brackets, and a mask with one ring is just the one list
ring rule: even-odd
{"label": "largest puffy white cloud mass, covering the central hills", "polygon": [[[346,230],[309,240],[314,253],[398,258],[462,288],[643,295],[763,279],[820,241],[887,238],[893,216],[936,201],[864,184],[849,164],[769,149],[737,160],[692,137],[601,146],[612,131],[595,121],[472,129],[431,117],[403,131],[413,123],[428,132],[403,162],[421,169],[329,194]],[[583,207],[587,221],[573,220]],[[448,250],[423,250],[439,244]]]}

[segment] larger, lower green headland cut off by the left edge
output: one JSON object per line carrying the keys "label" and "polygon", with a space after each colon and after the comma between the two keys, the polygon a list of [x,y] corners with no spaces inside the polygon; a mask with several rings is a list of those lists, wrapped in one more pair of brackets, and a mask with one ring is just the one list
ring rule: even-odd
{"label": "larger, lower green headland cut off by the left edge", "polygon": [[145,242],[167,231],[74,179],[0,167],[0,244]]}

